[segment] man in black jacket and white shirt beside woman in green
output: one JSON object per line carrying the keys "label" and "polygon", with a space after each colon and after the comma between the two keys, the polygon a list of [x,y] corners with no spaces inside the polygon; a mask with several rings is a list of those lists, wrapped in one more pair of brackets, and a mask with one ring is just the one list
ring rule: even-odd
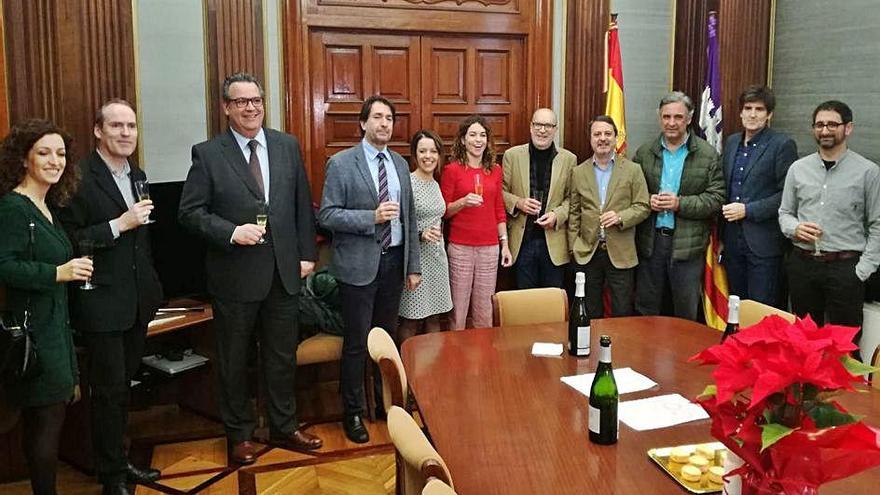
{"label": "man in black jacket and white shirt beside woman in green", "polygon": [[159,478],[159,471],[128,461],[124,437],[129,383],[141,362],[147,324],[161,306],[162,287],[144,226],[153,203],[138,201],[134,190],[147,176],[129,162],[137,146],[131,104],[112,99],[101,105],[94,133],[98,147],[79,163],[79,188],[59,217],[77,246],[96,246],[95,288],[72,288],[71,316],[88,351],[95,472],[104,494],[121,495],[130,493],[126,481]]}

